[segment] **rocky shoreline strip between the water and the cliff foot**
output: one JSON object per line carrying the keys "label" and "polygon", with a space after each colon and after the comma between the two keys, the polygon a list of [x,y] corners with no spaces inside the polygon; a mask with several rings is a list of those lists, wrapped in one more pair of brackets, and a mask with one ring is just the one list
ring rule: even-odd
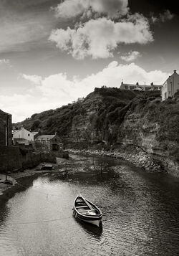
{"label": "rocky shoreline strip between the water and the cliff foot", "polygon": [[[121,152],[119,150],[114,151],[104,151],[104,150],[78,150],[78,149],[68,149],[70,154],[74,154],[76,156],[102,156],[102,157],[110,157],[110,158],[121,158],[124,161],[128,161],[129,163],[132,163],[134,166],[139,167],[140,169],[143,169],[147,172],[151,173],[162,173],[163,169],[161,169],[160,164],[155,163],[153,158],[147,155],[147,153],[142,151],[136,151],[136,152]],[[17,171],[17,172],[11,172],[7,176],[8,180],[12,182],[12,184],[4,184],[4,180],[6,175],[0,174],[0,199],[2,197],[8,196],[8,194],[11,192],[13,193],[14,190],[16,190],[16,186],[18,186],[18,180],[26,178],[28,176],[38,176],[40,174],[48,174],[48,173],[57,173],[59,171],[63,171],[60,169],[60,166],[62,167],[62,164],[65,162],[72,162],[79,161],[80,158],[74,158],[71,157],[68,160],[64,158],[57,158],[57,163],[53,163],[53,169],[52,170],[41,170],[42,166],[46,164],[46,162],[39,163],[36,167],[33,169],[25,169],[24,171]],[[9,196],[8,196],[9,197]]]}

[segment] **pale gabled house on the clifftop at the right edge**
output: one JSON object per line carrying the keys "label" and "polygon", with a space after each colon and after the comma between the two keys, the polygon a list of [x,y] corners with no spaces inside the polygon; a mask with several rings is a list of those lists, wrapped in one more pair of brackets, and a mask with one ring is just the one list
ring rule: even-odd
{"label": "pale gabled house on the clifftop at the right edge", "polygon": [[168,99],[168,97],[173,97],[173,95],[179,90],[179,75],[174,70],[173,75],[170,75],[168,79],[164,82],[162,88],[162,100]]}

